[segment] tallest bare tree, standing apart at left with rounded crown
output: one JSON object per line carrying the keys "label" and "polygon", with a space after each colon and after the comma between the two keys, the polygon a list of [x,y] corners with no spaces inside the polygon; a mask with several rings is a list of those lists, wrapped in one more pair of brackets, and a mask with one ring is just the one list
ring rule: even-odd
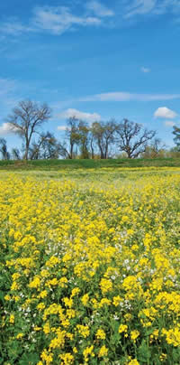
{"label": "tallest bare tree, standing apart at left with rounded crown", "polygon": [[24,159],[28,160],[31,137],[38,132],[39,127],[50,117],[47,104],[41,106],[31,100],[23,100],[13,113],[6,118],[14,133],[21,136],[25,146]]}

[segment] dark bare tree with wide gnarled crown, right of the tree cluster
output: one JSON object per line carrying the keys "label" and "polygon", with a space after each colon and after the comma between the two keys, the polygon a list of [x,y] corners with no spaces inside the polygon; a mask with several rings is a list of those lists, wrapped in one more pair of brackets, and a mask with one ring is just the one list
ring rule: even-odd
{"label": "dark bare tree with wide gnarled crown, right of the tree cluster", "polygon": [[129,158],[136,158],[145,152],[148,141],[156,135],[156,131],[144,129],[140,124],[128,119],[122,120],[116,132],[119,148],[126,152]]}

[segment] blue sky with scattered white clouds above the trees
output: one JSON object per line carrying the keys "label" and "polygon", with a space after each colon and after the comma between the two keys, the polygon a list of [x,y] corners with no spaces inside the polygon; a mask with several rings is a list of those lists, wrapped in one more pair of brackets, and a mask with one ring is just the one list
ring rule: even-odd
{"label": "blue sky with scattered white clouds above the trees", "polygon": [[27,98],[47,102],[44,128],[67,117],[115,117],[157,130],[173,146],[180,122],[179,0],[5,0],[0,4],[0,136]]}

